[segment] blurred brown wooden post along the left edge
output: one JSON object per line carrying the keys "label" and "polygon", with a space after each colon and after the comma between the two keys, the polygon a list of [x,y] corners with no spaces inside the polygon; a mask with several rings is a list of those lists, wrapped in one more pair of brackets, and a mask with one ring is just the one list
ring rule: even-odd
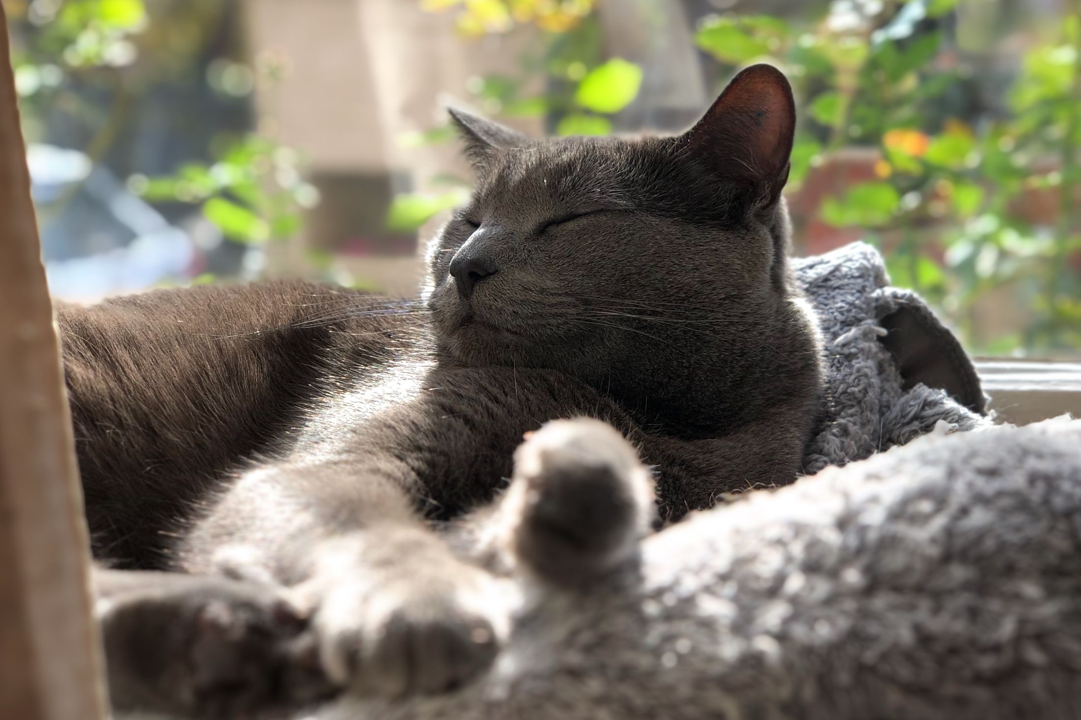
{"label": "blurred brown wooden post along the left edge", "polygon": [[0,718],[103,720],[59,343],[0,5]]}

